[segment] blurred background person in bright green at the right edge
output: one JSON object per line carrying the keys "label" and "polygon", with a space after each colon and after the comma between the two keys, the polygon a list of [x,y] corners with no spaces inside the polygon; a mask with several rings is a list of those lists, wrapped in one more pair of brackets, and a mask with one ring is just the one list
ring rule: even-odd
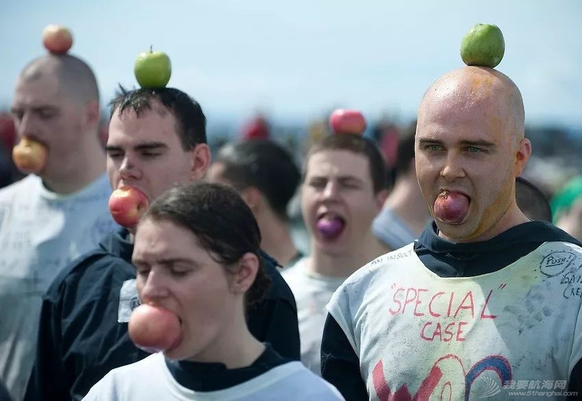
{"label": "blurred background person in bright green at the right edge", "polygon": [[570,179],[552,197],[550,205],[554,224],[582,240],[582,176]]}

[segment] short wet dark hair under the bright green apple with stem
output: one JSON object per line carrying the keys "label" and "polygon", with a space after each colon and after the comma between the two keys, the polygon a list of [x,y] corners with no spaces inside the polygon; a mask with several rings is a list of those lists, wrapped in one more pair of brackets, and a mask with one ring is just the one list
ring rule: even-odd
{"label": "short wet dark hair under the bright green apple with stem", "polygon": [[132,109],[140,116],[144,111],[151,110],[151,101],[157,100],[166,107],[176,118],[176,131],[180,138],[184,151],[190,151],[197,144],[206,143],[206,117],[199,103],[188,94],[175,88],[140,88],[127,90],[119,86],[112,101],[111,114],[117,111],[123,114],[125,110]]}

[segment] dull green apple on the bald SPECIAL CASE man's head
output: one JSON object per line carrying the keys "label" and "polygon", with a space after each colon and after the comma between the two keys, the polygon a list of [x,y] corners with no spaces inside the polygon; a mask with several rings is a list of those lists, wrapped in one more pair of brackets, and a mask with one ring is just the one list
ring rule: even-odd
{"label": "dull green apple on the bald SPECIAL CASE man's head", "polygon": [[494,68],[505,53],[505,40],[496,25],[477,24],[461,41],[461,59],[468,66]]}

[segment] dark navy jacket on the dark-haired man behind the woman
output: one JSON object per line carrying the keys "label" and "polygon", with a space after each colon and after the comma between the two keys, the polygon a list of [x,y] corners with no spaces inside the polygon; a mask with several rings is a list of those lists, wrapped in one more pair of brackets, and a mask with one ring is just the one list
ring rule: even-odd
{"label": "dark navy jacket on the dark-haired man behind the woman", "polygon": [[[127,323],[118,322],[121,287],[136,278],[133,249],[129,232],[121,229],[53,281],[42,300],[38,350],[25,400],[81,400],[110,370],[149,355],[131,342]],[[283,357],[299,360],[295,299],[278,263],[264,253],[262,257],[271,285],[247,311],[249,331]]]}

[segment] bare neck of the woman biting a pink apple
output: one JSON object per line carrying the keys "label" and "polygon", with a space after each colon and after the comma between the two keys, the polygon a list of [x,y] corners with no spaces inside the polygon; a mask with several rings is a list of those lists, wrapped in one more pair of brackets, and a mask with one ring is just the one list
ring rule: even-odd
{"label": "bare neck of the woman biting a pink apple", "polygon": [[[241,306],[242,309],[242,306]],[[227,369],[238,369],[253,364],[264,352],[261,344],[246,326],[244,313],[228,321],[228,327],[220,331],[212,346],[190,359],[193,362],[223,363]]]}

